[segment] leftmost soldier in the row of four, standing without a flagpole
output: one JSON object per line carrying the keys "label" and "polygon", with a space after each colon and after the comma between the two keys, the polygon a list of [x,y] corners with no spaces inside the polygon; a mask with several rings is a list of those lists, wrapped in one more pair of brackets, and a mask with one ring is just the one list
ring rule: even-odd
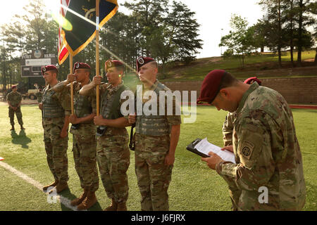
{"label": "leftmost soldier in the row of four, standing without a flagpole", "polygon": [[[42,123],[44,128],[44,145],[49,169],[55,181],[43,187],[43,191],[48,188],[56,188],[56,192],[68,188],[68,124],[70,115],[70,95],[67,91],[56,93],[51,88],[58,84],[58,70],[54,65],[42,67],[42,75],[47,83],[43,90],[42,103]],[[53,190],[51,190],[53,192]]]}

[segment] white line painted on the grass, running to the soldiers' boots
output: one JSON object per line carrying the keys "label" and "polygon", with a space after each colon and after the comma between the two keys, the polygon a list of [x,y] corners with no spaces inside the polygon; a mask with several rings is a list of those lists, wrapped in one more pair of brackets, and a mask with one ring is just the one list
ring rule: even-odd
{"label": "white line painted on the grass, running to the soldiers' boots", "polygon": [[[27,181],[27,183],[32,184],[32,186],[35,186],[40,191],[43,191],[42,188],[44,185],[40,184],[38,181],[35,181],[35,179],[32,179],[30,176],[23,174],[23,172],[20,172],[17,169],[11,167],[11,165],[8,165],[6,162],[0,161],[0,166],[4,167],[4,169],[7,169],[8,171],[12,172],[13,174],[19,176],[21,179]],[[50,198],[51,198],[51,195],[50,195],[50,197],[48,196],[48,202],[49,202]],[[56,194],[56,199],[58,199],[61,204],[65,205],[70,210],[77,211],[77,207],[70,205],[70,200],[68,198],[65,198],[62,195]]]}

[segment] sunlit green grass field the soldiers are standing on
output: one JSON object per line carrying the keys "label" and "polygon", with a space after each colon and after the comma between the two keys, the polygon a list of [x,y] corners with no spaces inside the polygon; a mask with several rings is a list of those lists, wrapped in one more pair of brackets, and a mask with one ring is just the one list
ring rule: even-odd
{"label": "sunlit green grass field the soldiers are standing on", "polygon": [[[0,157],[8,165],[27,174],[41,184],[49,184],[53,177],[46,163],[40,111],[37,105],[23,105],[25,132],[9,131],[8,107],[0,105]],[[306,181],[306,205],[304,210],[317,210],[317,110],[293,110],[297,137],[304,158]],[[185,147],[197,137],[205,137],[212,143],[222,146],[221,126],[226,113],[216,108],[197,107],[197,121],[182,124],[180,141],[172,181],[169,188],[170,210],[230,210],[230,198],[225,181],[209,169],[200,157],[189,153]],[[15,119],[16,122],[16,119]],[[80,181],[75,172],[72,137],[68,142],[68,185],[70,191],[62,195],[72,200],[81,194]],[[140,210],[140,195],[135,176],[134,153],[131,151],[128,210]],[[103,210],[111,201],[106,197],[104,187],[99,182],[98,204],[90,210]],[[60,203],[47,203],[45,193],[20,179],[15,174],[0,167],[0,210],[69,210]]]}

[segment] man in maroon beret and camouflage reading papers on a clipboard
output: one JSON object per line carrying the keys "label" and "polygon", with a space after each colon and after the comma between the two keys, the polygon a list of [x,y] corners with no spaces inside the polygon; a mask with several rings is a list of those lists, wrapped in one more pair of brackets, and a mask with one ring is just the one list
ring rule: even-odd
{"label": "man in maroon beret and camouflage reading papers on a clipboard", "polygon": [[[213,70],[201,85],[197,103],[208,102],[218,110],[235,112],[230,148],[236,164],[213,153],[202,158],[240,191],[238,210],[302,210],[306,187],[302,154],[292,111],[272,89],[237,81],[224,70]],[[260,199],[267,188],[267,201]],[[235,199],[235,198],[233,198]]]}

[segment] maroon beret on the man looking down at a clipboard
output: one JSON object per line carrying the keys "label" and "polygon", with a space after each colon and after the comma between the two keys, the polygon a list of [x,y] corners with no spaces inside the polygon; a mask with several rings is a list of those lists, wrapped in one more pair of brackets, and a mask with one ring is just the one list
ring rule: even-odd
{"label": "maroon beret on the man looking down at a clipboard", "polygon": [[225,70],[212,70],[204,78],[201,84],[200,96],[197,104],[200,102],[212,103],[220,91],[220,82],[225,74]]}

